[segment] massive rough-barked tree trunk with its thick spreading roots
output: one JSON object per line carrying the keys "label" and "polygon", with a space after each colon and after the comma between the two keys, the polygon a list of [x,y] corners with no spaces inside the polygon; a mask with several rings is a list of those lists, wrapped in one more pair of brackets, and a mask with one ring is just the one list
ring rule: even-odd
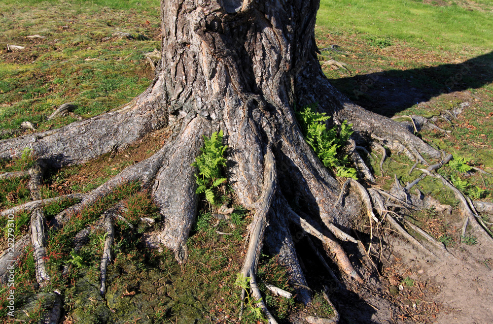
{"label": "massive rough-barked tree trunk with its thick spreading roots", "polygon": [[[361,282],[335,236],[350,237],[339,228],[351,229],[354,219],[366,212],[373,221],[370,199],[364,205],[351,190],[340,203],[341,186],[305,142],[293,107],[318,103],[332,122],[352,123],[355,140],[378,138],[417,161],[425,162],[423,153],[440,158],[441,152],[405,126],[354,105],[329,84],[316,55],[318,4],[162,0],[162,59],[146,92],[118,110],[60,130],[0,141],[0,158],[19,156],[29,147],[46,167],[60,167],[125,147],[152,130],[172,128],[154,156],[82,195],[70,210],[94,203],[123,182],[141,181],[163,216],[158,229],[144,235],[146,243],[167,247],[184,262],[197,209],[191,164],[200,154],[203,135],[223,130],[229,145],[228,181],[237,202],[255,212],[250,228],[254,241],[250,239],[243,267],[251,287],[256,287],[254,272],[265,232],[270,251],[280,255],[301,300],[309,302],[289,222],[321,239],[341,272]],[[303,211],[304,219],[289,204]],[[52,226],[61,226],[70,215],[58,215]]]}

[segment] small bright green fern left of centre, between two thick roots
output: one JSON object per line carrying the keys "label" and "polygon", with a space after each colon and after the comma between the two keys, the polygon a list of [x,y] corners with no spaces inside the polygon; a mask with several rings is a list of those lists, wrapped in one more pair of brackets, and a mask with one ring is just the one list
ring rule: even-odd
{"label": "small bright green fern left of centre, between two thick roots", "polygon": [[228,148],[222,144],[222,130],[212,133],[211,138],[204,136],[204,147],[202,154],[195,158],[192,166],[198,169],[196,194],[205,194],[207,201],[212,205],[217,204],[215,191],[226,181],[223,177],[222,167],[226,166],[224,152]]}

